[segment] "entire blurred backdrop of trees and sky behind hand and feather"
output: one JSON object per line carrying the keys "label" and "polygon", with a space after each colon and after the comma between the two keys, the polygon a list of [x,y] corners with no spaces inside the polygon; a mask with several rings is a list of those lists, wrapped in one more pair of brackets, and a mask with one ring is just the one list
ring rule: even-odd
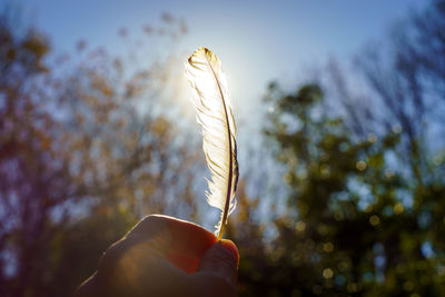
{"label": "entire blurred backdrop of trees and sky behind hand and feather", "polygon": [[214,229],[200,46],[238,123],[239,296],[444,296],[444,0],[0,2],[0,295],[69,296],[149,214]]}

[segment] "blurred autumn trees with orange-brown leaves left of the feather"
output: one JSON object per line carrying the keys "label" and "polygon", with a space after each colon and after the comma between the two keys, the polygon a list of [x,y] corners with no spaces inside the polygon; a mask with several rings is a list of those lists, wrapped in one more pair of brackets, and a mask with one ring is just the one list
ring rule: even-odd
{"label": "blurred autumn trees with orange-brown leaves left of the feather", "polygon": [[[51,65],[47,39],[14,18],[0,22],[0,295],[66,296],[141,216],[196,220],[204,167],[165,99],[177,88],[174,50],[138,43],[115,58],[79,42],[76,58]],[[162,20],[146,34],[174,49],[185,24]]]}

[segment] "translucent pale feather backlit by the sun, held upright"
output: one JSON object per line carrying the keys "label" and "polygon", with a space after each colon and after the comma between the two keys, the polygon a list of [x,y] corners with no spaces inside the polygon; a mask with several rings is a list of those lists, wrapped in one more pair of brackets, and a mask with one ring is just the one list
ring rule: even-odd
{"label": "translucent pale feather backlit by the sun, held upright", "polygon": [[197,121],[202,128],[202,149],[211,181],[206,191],[210,206],[221,210],[215,226],[222,237],[229,215],[235,210],[238,184],[236,127],[231,99],[221,62],[210,50],[199,48],[188,58],[186,76],[194,91]]}

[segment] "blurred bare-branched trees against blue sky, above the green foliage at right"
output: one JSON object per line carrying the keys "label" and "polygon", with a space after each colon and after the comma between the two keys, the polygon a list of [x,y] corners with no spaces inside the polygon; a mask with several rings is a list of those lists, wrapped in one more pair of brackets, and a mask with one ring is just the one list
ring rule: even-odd
{"label": "blurred bare-branched trees against blue sky, above the green foliage at right", "polygon": [[[336,62],[329,72],[344,109],[344,120],[358,138],[400,130],[399,155],[405,168],[424,182],[434,175],[428,157],[443,154],[445,2],[432,0],[424,10],[395,26],[386,44],[369,43],[356,58],[365,95]],[[350,75],[350,73],[348,73]],[[358,80],[359,81],[359,80]]]}

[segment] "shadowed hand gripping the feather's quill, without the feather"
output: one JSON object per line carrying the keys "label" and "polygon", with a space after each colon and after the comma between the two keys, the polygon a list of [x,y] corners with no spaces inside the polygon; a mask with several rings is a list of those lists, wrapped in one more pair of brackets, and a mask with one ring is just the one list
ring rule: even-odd
{"label": "shadowed hand gripping the feather's quill, without the feather", "polygon": [[198,225],[148,216],[100,259],[87,296],[236,296],[238,250]]}

